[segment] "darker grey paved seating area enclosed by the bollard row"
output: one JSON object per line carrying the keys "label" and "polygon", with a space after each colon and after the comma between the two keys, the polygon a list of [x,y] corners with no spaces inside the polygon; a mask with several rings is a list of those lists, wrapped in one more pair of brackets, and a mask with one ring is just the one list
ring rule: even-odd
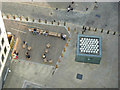
{"label": "darker grey paved seating area enclosed by the bollard row", "polygon": [[44,36],[39,34],[33,35],[32,32],[28,30],[29,27],[31,26],[32,28],[38,27],[41,30],[48,30],[56,33],[64,33],[67,35],[67,39],[69,37],[67,30],[64,27],[60,27],[60,26],[49,26],[49,25],[33,24],[33,23],[20,23],[14,21],[5,21],[5,25],[7,32],[11,32],[19,39],[19,43],[17,46],[17,50],[19,52],[18,59],[26,60],[25,53],[27,52],[27,49],[23,49],[22,45],[23,45],[23,41],[27,41],[28,46],[31,46],[32,48],[29,51],[31,55],[30,61],[42,63],[42,64],[44,64],[42,55],[44,54],[46,45],[48,43],[51,46],[48,49],[47,60],[52,59],[53,63],[52,64],[46,63],[46,64],[55,66],[58,61],[58,58],[62,53],[63,48],[65,47],[67,40],[62,40],[61,38],[53,37],[53,36]]}

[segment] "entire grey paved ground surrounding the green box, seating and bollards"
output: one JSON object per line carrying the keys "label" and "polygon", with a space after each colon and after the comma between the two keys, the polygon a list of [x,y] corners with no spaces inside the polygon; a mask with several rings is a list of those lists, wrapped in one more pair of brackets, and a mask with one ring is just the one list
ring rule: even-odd
{"label": "entire grey paved ground surrounding the green box, seating and bollards", "polygon": [[[10,65],[11,73],[8,74],[4,88],[52,87],[52,88],[118,88],[118,3],[98,3],[98,8],[92,8],[94,3],[75,3],[71,12],[66,11],[70,3],[3,3],[2,12],[11,15],[22,15],[31,19],[41,19],[50,23],[18,22],[4,19],[7,31],[19,38],[17,49],[18,60],[13,60]],[[40,6],[41,5],[41,6]],[[56,8],[59,8],[56,10]],[[88,11],[86,11],[88,7]],[[50,14],[52,13],[52,15]],[[60,25],[57,25],[60,22]],[[66,28],[70,27],[70,35]],[[82,33],[81,26],[97,28],[96,31],[86,30]],[[39,27],[70,36],[70,42],[57,69],[55,65],[67,41],[60,38],[33,35],[28,31],[28,26]],[[101,31],[103,30],[103,31]],[[107,33],[109,31],[109,33]],[[113,34],[115,32],[115,35]],[[100,64],[76,62],[77,34],[94,35],[102,38],[102,59]],[[67,38],[68,39],[68,38]],[[22,42],[26,40],[32,47],[31,60],[25,59],[25,49]],[[41,58],[46,44],[51,48],[48,58],[53,59],[53,64],[44,64]],[[83,79],[76,79],[77,73]],[[28,83],[26,83],[28,81]],[[16,83],[17,82],[17,83]]]}

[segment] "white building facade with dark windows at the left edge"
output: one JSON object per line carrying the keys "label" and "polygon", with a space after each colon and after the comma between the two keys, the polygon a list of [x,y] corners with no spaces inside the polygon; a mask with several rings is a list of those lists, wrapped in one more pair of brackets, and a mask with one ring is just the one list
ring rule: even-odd
{"label": "white building facade with dark windows at the left edge", "polygon": [[10,52],[10,45],[5,30],[5,25],[2,19],[2,13],[0,11],[0,89],[3,82],[3,71],[7,62],[7,58]]}

